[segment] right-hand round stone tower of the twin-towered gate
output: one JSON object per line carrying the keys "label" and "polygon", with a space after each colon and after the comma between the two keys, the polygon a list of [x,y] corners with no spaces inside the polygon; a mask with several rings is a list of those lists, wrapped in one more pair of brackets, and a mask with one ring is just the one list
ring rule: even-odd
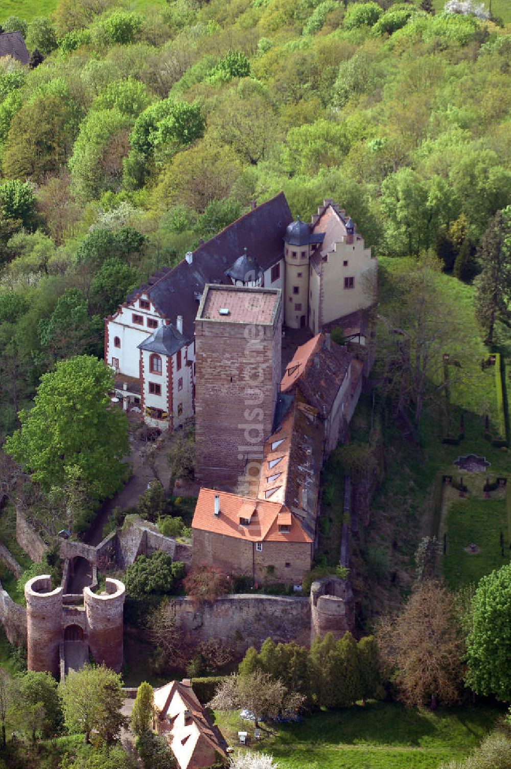
{"label": "right-hand round stone tower of the twin-towered gate", "polygon": [[88,645],[98,664],[105,663],[116,673],[123,663],[123,611],[125,588],[117,579],[107,578],[104,593],[84,588]]}

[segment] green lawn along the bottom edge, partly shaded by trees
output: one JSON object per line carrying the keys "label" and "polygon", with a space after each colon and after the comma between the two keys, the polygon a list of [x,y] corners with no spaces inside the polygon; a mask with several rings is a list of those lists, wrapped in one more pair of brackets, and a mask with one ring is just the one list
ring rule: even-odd
{"label": "green lawn along the bottom edge, partly shaded by trees", "polygon": [[[498,716],[488,706],[433,714],[377,702],[270,727],[270,734],[261,730],[256,746],[273,754],[280,769],[436,769],[440,761],[468,754]],[[215,718],[227,741],[237,744],[237,730],[247,728],[246,722],[237,714],[215,713]]]}

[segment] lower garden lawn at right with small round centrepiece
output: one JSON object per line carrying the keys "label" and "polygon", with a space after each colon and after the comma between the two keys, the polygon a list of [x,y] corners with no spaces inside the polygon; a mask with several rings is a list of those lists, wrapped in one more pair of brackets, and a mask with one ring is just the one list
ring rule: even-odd
{"label": "lower garden lawn at right with small round centrepiece", "polygon": [[[506,542],[505,499],[469,496],[451,504],[446,521],[447,554],[443,558],[443,575],[450,588],[477,583],[484,574],[509,561],[508,548],[504,548],[502,557],[501,531]],[[479,552],[472,554],[466,551],[470,542],[477,545]]]}

